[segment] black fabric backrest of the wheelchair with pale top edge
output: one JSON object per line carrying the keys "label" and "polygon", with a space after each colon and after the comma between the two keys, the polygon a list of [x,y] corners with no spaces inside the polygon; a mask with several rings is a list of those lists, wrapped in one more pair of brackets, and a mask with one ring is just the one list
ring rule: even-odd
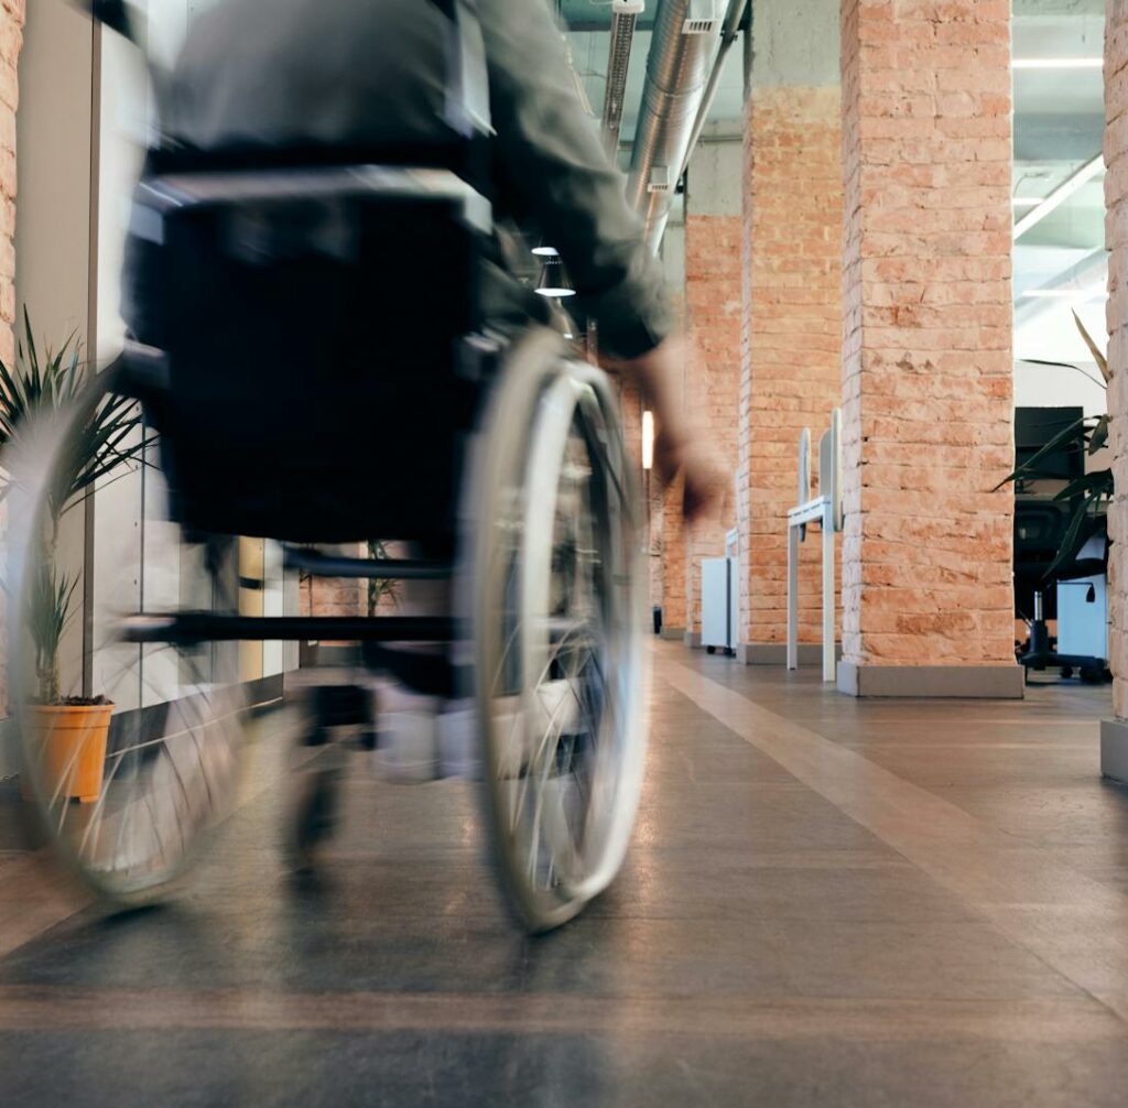
{"label": "black fabric backrest of the wheelchair with pale top edge", "polygon": [[142,181],[127,360],[180,522],[310,542],[451,534],[481,393],[465,336],[483,204],[443,170]]}

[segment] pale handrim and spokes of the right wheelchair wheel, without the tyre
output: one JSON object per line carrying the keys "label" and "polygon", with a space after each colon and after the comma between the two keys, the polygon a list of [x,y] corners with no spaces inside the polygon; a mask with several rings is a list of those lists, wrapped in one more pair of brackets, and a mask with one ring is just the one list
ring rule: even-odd
{"label": "pale handrim and spokes of the right wheelchair wheel, without the tyre", "polygon": [[485,659],[496,770],[487,785],[506,872],[537,926],[563,922],[614,874],[641,780],[637,579],[619,537],[633,516],[620,461],[606,455],[619,440],[596,429],[601,416],[582,392],[558,394],[534,421],[528,454],[492,476],[499,508],[483,513],[500,520],[493,534],[505,544],[491,554],[497,574],[483,608],[496,621]]}

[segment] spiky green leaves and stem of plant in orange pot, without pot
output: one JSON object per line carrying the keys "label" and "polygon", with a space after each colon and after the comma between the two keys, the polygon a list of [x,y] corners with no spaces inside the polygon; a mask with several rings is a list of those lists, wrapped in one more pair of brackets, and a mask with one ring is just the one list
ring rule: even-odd
{"label": "spiky green leaves and stem of plant in orange pot, without pot", "polygon": [[46,487],[43,559],[32,568],[35,575],[28,590],[36,700],[43,704],[60,700],[59,647],[79,584],[77,575],[61,574],[56,566],[60,521],[122,464],[140,464],[146,448],[152,445],[152,439],[146,438],[135,401],[107,392],[97,403],[88,402],[91,379],[73,334],[59,350],[49,348],[41,357],[25,310],[15,366],[0,360],[0,501],[20,480],[10,468],[10,458],[33,421],[59,413],[81,413],[67,436],[63,456]]}

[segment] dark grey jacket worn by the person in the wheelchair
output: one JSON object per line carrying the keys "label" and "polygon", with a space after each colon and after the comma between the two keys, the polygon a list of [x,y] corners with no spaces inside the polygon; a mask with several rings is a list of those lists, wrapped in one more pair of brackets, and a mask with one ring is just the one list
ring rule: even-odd
{"label": "dark grey jacket worn by the person in the wheelchair", "polygon": [[[662,276],[580,105],[547,2],[476,7],[495,205],[559,249],[605,351],[645,353],[669,329]],[[204,150],[448,141],[444,32],[426,0],[222,0],[190,29],[166,127]]]}

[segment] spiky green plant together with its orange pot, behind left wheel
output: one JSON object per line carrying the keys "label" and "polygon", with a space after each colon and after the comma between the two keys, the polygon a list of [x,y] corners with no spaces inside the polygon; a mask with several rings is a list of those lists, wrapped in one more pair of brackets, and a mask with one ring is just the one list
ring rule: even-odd
{"label": "spiky green plant together with its orange pot, behind left wheel", "polygon": [[[41,357],[25,311],[16,363],[8,367],[0,361],[0,500],[7,501],[23,480],[12,467],[21,440],[49,425],[61,411],[73,411],[88,381],[76,336]],[[60,648],[79,614],[81,574],[60,568],[60,527],[69,512],[94,494],[99,480],[123,461],[140,464],[144,446],[136,403],[112,397],[94,405],[69,429],[65,464],[52,477],[36,524],[44,529],[44,553],[38,565],[27,568],[29,583],[21,605],[26,641],[35,657],[12,661],[28,674],[30,705],[25,726],[34,730],[35,748],[42,751],[39,784],[49,795],[65,790],[83,802],[98,799],[114,711],[105,696],[63,694]],[[26,774],[23,788],[29,799]]]}

